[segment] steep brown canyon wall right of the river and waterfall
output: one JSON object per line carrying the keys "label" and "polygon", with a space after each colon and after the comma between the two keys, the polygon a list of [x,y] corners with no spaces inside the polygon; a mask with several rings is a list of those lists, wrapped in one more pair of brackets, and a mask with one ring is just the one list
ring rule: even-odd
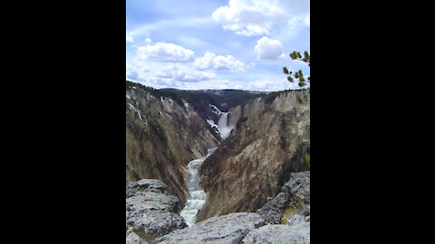
{"label": "steep brown canyon wall right of the river and waterfall", "polygon": [[309,170],[309,90],[281,92],[230,109],[231,135],[199,168],[207,202],[198,221],[256,211],[291,172]]}

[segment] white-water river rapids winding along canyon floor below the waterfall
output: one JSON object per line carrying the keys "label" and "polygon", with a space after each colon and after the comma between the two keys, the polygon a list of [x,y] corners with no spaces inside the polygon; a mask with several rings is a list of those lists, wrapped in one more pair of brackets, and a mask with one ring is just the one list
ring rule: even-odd
{"label": "white-water river rapids winding along canyon floor below the waterfall", "polygon": [[195,221],[197,221],[197,213],[202,209],[207,198],[206,192],[199,186],[198,166],[204,163],[204,160],[206,160],[209,155],[213,154],[216,149],[218,149],[218,147],[208,148],[208,155],[194,159],[188,164],[189,175],[186,185],[188,186],[190,197],[183,210],[179,212],[179,215],[184,218],[188,226],[195,224]]}

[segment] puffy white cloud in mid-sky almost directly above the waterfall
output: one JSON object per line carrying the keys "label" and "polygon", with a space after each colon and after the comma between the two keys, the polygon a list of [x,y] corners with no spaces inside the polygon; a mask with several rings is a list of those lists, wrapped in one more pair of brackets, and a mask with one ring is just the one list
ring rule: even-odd
{"label": "puffy white cloud in mid-sky almost directly above the waterfall", "polygon": [[196,59],[194,67],[198,70],[246,71],[245,64],[237,61],[232,55],[221,56],[212,52],[206,52],[204,57]]}

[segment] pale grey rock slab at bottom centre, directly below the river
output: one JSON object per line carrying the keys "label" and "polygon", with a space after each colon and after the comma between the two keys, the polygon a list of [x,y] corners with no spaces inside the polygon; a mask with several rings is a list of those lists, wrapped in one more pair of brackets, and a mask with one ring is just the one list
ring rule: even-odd
{"label": "pale grey rock slab at bottom centre, directly below the river", "polygon": [[254,212],[236,212],[198,222],[187,229],[174,230],[156,243],[240,243],[247,233],[266,221]]}

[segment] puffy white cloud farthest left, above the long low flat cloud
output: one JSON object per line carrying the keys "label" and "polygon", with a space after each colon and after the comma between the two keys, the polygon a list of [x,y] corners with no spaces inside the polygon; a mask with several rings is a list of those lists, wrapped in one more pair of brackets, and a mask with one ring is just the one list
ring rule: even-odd
{"label": "puffy white cloud farthest left, above the long low flat cloud", "polygon": [[189,62],[194,61],[195,53],[174,43],[157,42],[138,47],[137,57],[142,60]]}

